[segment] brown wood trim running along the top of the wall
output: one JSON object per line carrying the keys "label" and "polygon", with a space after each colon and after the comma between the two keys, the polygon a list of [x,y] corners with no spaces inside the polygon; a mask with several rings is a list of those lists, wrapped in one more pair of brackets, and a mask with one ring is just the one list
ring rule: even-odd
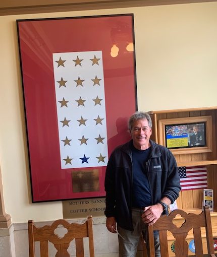
{"label": "brown wood trim running along the top of the wall", "polygon": [[2,0],[0,16],[216,2],[217,0]]}

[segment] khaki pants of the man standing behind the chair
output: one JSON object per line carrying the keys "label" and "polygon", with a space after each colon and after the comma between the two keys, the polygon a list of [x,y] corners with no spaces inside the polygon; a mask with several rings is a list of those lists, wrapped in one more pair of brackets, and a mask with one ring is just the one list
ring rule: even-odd
{"label": "khaki pants of the man standing behind the chair", "polygon": [[[133,231],[129,231],[118,226],[118,239],[119,239],[119,257],[135,257],[137,252],[137,246],[140,240],[141,233],[146,242],[147,251],[149,255],[149,244],[148,244],[148,230],[147,225],[142,222],[141,219],[142,211],[140,209],[132,209],[133,219]],[[160,257],[160,246],[159,246],[159,233],[154,232],[155,242],[155,257]]]}

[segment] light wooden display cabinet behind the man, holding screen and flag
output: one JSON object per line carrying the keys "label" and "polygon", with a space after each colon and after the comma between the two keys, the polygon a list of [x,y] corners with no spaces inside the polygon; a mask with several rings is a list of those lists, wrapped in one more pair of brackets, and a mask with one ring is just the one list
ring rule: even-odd
{"label": "light wooden display cabinet behind the man, holding screen and flag", "polygon": [[[208,137],[208,140],[211,139],[211,150],[209,149],[209,151],[200,152],[198,147],[196,152],[190,151],[191,148],[186,149],[186,151],[182,150],[180,152],[173,151],[172,149],[171,151],[173,152],[179,167],[206,165],[207,185],[209,189],[213,189],[214,212],[211,213],[212,231],[213,237],[217,237],[217,106],[210,108],[150,111],[149,114],[153,123],[151,139],[161,145],[165,145],[165,142],[162,141],[162,138],[165,137],[165,131],[162,130],[162,120],[168,123],[165,120],[186,119],[188,121],[191,120],[189,119],[189,117],[211,117],[211,128],[209,128],[209,130],[207,131],[208,134],[206,135]],[[199,211],[201,211],[202,201],[203,189],[183,190],[180,192],[180,196],[177,199],[177,205],[179,209],[183,209],[187,212],[198,213]],[[181,219],[177,218],[177,222],[182,221]],[[168,238],[168,245],[169,247],[171,247],[174,238],[172,238],[170,235],[168,235]],[[192,240],[191,232],[189,232],[187,239],[189,242]],[[189,251],[189,255],[191,254],[192,253]],[[172,251],[171,256],[175,256]]]}

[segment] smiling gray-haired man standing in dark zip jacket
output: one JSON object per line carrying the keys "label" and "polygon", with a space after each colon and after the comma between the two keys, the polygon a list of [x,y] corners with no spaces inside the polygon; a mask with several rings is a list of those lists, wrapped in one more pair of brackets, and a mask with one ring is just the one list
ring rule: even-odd
{"label": "smiling gray-haired man standing in dark zip jacket", "polygon": [[[106,168],[106,227],[112,233],[118,230],[120,257],[136,256],[141,233],[148,242],[147,225],[168,211],[181,189],[176,160],[150,140],[151,127],[147,113],[134,113],[129,119],[132,140],[113,151]],[[157,231],[154,240],[159,257]]]}

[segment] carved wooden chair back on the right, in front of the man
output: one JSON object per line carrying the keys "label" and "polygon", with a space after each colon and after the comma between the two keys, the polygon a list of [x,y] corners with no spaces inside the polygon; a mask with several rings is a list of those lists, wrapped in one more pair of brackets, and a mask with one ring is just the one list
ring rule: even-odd
{"label": "carved wooden chair back on the right, in front of the man", "polygon": [[[185,220],[181,227],[177,227],[174,218],[181,215]],[[152,226],[148,226],[148,238],[150,247],[150,257],[155,257],[153,230],[159,230],[160,253],[161,257],[169,257],[168,234],[171,232],[175,238],[175,256],[188,257],[188,243],[186,237],[188,232],[193,229],[193,239],[195,246],[195,256],[202,257],[202,237],[201,228],[205,227],[208,256],[214,255],[211,218],[208,207],[204,207],[200,214],[186,213],[183,210],[175,210],[168,215],[162,215]],[[170,231],[170,232],[168,232]],[[192,254],[193,255],[193,254]]]}

